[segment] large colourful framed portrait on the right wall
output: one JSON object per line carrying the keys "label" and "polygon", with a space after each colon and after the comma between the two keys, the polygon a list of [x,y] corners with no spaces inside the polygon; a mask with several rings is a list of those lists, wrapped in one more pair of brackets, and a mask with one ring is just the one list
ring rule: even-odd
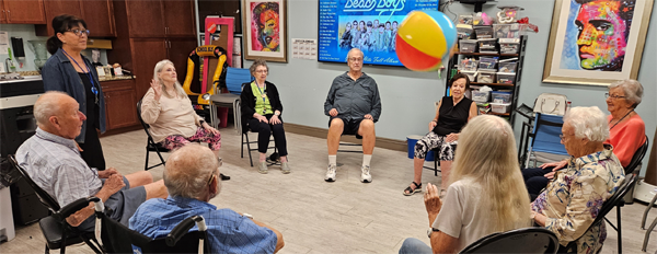
{"label": "large colourful framed portrait on the right wall", "polygon": [[555,0],[543,82],[636,79],[654,0]]}

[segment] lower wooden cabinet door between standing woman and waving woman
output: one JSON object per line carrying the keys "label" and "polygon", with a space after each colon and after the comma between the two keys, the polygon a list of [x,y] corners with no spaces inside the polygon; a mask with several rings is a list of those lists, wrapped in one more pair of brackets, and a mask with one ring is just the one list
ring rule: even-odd
{"label": "lower wooden cabinet door between standing woman and waving woman", "polygon": [[137,125],[137,101],[135,90],[126,89],[107,91],[105,95],[105,113],[107,130]]}

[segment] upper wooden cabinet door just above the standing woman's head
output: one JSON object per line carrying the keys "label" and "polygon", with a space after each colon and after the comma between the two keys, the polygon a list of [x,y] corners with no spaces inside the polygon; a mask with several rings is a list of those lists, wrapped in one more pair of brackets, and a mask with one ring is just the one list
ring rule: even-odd
{"label": "upper wooden cabinet door just above the standing woman's head", "polygon": [[[4,0],[12,1],[12,0]],[[21,1],[21,0],[13,0]],[[38,36],[53,36],[55,31],[53,30],[53,19],[61,14],[71,14],[76,16],[82,16],[82,9],[80,8],[80,0],[45,0],[46,9],[46,25],[35,26],[36,35]],[[84,18],[83,18],[84,19]],[[84,21],[87,22],[87,20]],[[89,23],[88,23],[89,25]],[[89,28],[89,27],[87,27]]]}

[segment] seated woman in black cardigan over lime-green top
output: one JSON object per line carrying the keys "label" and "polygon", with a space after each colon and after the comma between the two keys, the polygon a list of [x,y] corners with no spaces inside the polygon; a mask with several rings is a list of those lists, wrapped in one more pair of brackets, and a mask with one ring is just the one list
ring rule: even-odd
{"label": "seated woman in black cardigan over lime-green top", "polygon": [[269,137],[274,134],[274,143],[278,149],[278,154],[280,154],[280,171],[288,174],[290,168],[287,161],[285,130],[280,119],[283,104],[280,104],[278,90],[276,85],[265,81],[269,71],[265,60],[256,59],[249,69],[255,80],[242,88],[240,100],[242,102],[242,123],[247,123],[252,131],[258,132],[260,163],[257,172],[267,173],[267,162],[265,160],[269,147]]}

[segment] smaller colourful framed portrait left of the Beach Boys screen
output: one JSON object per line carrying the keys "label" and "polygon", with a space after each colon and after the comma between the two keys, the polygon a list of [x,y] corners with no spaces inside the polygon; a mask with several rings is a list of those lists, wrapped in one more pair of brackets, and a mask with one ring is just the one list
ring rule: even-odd
{"label": "smaller colourful framed portrait left of the Beach Boys screen", "polygon": [[243,0],[242,21],[244,59],[288,62],[287,0]]}

